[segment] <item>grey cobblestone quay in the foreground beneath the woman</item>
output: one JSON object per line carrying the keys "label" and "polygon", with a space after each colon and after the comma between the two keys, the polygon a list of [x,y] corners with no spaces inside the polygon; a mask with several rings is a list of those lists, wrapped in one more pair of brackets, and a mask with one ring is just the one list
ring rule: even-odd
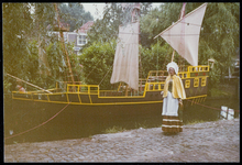
{"label": "grey cobblestone quay in the foreground beneath the woman", "polygon": [[4,162],[240,162],[240,119],[4,145]]}

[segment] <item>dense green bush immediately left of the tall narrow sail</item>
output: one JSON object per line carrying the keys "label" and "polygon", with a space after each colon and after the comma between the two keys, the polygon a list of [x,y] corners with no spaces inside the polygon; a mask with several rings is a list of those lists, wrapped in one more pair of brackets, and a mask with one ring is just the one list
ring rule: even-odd
{"label": "dense green bush immediately left of the tall narrow sail", "polygon": [[116,41],[92,43],[84,48],[80,56],[84,82],[110,89],[110,78],[114,57]]}

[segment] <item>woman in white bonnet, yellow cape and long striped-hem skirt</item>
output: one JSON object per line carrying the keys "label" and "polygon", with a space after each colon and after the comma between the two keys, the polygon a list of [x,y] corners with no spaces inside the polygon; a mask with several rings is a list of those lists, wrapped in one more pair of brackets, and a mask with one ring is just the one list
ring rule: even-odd
{"label": "woman in white bonnet, yellow cape and long striped-hem skirt", "polygon": [[167,66],[168,76],[165,80],[163,95],[163,122],[162,130],[164,132],[183,132],[183,121],[178,118],[179,103],[183,105],[183,99],[186,99],[183,81],[178,73],[178,66],[175,62]]}

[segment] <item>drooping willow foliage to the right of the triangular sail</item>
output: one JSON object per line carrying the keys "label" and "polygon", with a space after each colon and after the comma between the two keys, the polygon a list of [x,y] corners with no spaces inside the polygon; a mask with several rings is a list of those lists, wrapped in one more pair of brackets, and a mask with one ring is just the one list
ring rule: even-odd
{"label": "drooping willow foliage to the right of the triangular sail", "polygon": [[[205,63],[206,58],[213,57],[220,80],[232,66],[239,47],[239,3],[209,3],[205,14],[200,40],[205,44],[199,47],[199,61]],[[208,53],[202,53],[202,50],[208,50]]]}

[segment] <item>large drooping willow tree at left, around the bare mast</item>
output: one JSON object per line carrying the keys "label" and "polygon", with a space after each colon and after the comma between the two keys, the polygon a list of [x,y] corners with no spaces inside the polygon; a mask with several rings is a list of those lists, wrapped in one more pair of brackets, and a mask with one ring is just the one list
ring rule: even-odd
{"label": "large drooping willow tree at left, around the bare mast", "polygon": [[[66,13],[58,10],[58,14],[62,16]],[[51,87],[56,80],[66,80],[66,56],[58,37],[50,33],[57,23],[55,6],[3,3],[2,15],[4,89],[10,91],[15,87],[15,80],[7,77],[6,73],[42,88]],[[72,50],[72,45],[66,45],[66,48]],[[77,56],[72,54],[72,51],[69,53],[70,63],[75,64],[76,70],[79,72],[79,65],[75,63]],[[47,65],[40,61],[41,54],[45,55]],[[50,73],[40,72],[43,67]]]}

